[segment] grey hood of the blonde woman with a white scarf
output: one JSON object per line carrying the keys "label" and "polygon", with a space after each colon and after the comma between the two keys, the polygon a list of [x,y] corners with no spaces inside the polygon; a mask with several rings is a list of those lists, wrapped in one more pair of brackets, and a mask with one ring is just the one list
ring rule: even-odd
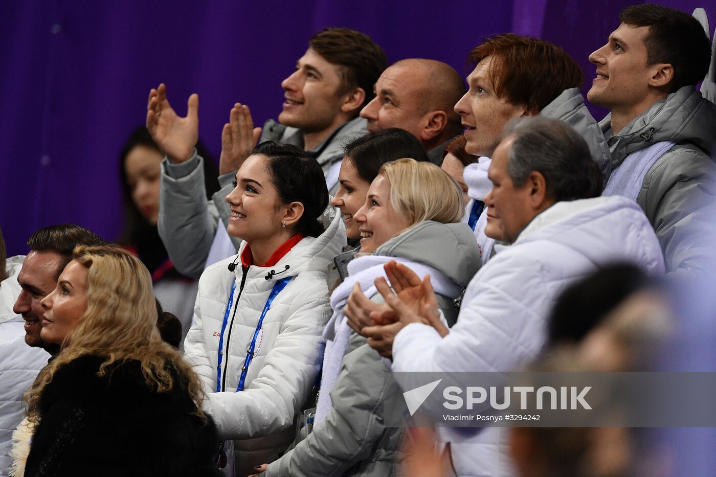
{"label": "grey hood of the blonde woman with a white scarf", "polygon": [[475,234],[466,223],[422,221],[379,246],[375,254],[419,261],[460,286],[468,286],[481,264]]}

